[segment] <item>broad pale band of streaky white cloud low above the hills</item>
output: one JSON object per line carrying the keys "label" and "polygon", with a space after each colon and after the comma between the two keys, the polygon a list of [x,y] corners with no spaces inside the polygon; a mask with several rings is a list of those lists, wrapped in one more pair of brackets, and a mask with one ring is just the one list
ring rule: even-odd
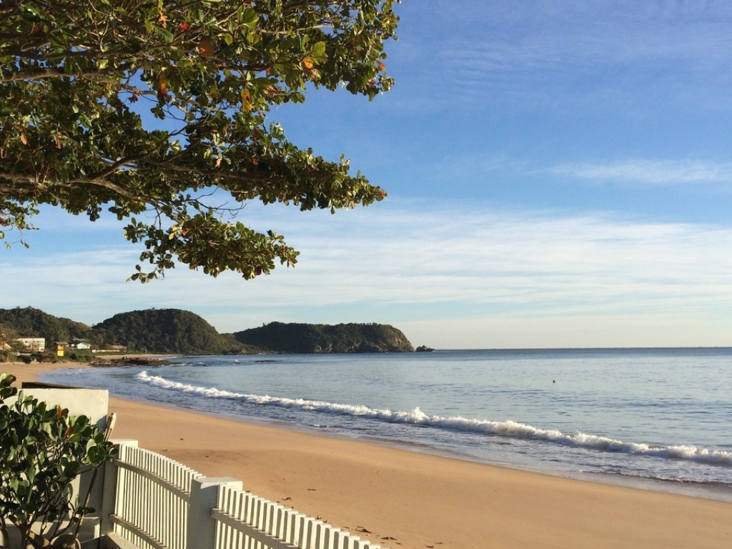
{"label": "broad pale band of streaky white cloud low above the hills", "polygon": [[710,311],[732,322],[731,228],[478,204],[283,213],[278,226],[302,251],[296,269],[249,282],[175,269],[141,286],[124,283],[135,261],[129,250],[45,257],[0,265],[10,281],[6,295],[20,300],[6,297],[5,306],[53,303],[50,312],[90,323],[123,310],[180,307],[221,331],[282,320],[429,324],[433,331],[467,323],[478,332],[500,318],[559,329],[560,319],[619,324],[668,315],[681,315],[685,324],[676,329],[687,330]]}

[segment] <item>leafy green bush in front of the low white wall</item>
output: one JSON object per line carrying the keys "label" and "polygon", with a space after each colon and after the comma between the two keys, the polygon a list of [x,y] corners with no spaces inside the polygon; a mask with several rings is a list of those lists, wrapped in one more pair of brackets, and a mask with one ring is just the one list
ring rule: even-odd
{"label": "leafy green bush in front of the low white wall", "polygon": [[14,381],[0,373],[0,537],[7,543],[10,520],[20,547],[42,548],[64,531],[78,533],[93,509],[75,496],[72,481],[110,460],[113,447],[88,417],[18,393]]}

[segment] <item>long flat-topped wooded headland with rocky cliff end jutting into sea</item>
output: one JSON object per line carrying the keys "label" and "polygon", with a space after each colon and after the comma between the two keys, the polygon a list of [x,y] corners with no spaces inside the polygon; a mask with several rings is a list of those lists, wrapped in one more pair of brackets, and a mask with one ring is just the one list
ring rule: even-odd
{"label": "long flat-topped wooded headland with rocky cliff end jutting into sea", "polygon": [[406,336],[388,324],[285,324],[272,322],[234,333],[239,342],[285,353],[411,352]]}

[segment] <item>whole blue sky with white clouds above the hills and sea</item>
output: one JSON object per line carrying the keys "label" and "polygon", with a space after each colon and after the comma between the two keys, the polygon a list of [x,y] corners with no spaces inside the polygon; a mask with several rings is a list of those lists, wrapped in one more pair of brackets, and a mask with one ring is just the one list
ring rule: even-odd
{"label": "whole blue sky with white clouds above the hills and sea", "polygon": [[95,324],[179,307],[220,332],[381,322],[436,348],[732,345],[732,4],[397,6],[397,81],[272,113],[389,197],[330,215],[247,205],[295,269],[125,283],[119,223],[45,210],[0,251],[1,307]]}

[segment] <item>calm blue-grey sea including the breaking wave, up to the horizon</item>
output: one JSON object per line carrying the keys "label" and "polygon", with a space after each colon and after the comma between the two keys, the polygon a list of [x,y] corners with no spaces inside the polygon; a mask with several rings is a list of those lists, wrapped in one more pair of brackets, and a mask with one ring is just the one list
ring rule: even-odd
{"label": "calm blue-grey sea including the breaking wave, up to the horizon", "polygon": [[49,383],[732,501],[732,348],[181,356]]}

